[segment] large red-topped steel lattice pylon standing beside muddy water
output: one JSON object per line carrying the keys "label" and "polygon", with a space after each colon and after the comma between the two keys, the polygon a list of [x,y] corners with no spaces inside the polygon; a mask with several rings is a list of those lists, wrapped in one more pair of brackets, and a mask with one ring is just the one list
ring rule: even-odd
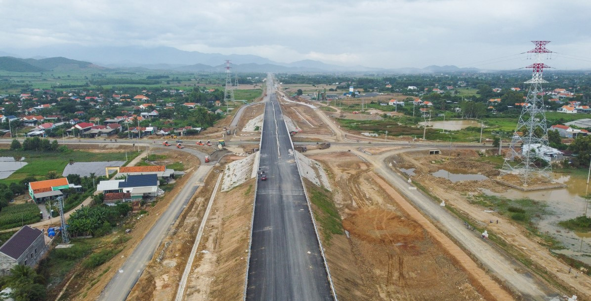
{"label": "large red-topped steel lattice pylon standing beside muddy water", "polygon": [[[527,67],[533,70],[531,80],[525,81],[531,84],[530,90],[522,106],[511,145],[501,169],[501,176],[518,175],[524,186],[534,178],[551,180],[552,172],[552,166],[544,156],[544,152],[548,150],[548,129],[541,86],[547,83],[542,78],[542,72],[548,67],[541,63],[541,54],[551,53],[545,48],[550,41],[532,42],[535,48],[528,53],[536,54],[537,63]],[[511,162],[517,162],[517,164],[511,164]]]}

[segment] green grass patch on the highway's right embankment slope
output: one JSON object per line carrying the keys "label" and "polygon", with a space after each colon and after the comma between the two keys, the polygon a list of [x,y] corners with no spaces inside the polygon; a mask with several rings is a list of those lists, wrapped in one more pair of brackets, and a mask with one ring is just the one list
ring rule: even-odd
{"label": "green grass patch on the highway's right embankment slope", "polygon": [[314,205],[314,217],[320,225],[324,241],[330,243],[332,234],[343,234],[343,221],[332,201],[332,194],[316,185],[307,185],[310,201]]}

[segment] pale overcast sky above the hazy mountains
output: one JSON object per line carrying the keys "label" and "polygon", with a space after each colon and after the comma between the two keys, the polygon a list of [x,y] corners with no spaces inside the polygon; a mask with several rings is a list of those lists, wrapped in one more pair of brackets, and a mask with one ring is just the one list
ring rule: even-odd
{"label": "pale overcast sky above the hazy mountains", "polygon": [[[0,50],[79,44],[170,46],[290,63],[513,69],[531,40],[546,63],[591,67],[591,1],[0,0]],[[3,46],[4,45],[4,48]]]}

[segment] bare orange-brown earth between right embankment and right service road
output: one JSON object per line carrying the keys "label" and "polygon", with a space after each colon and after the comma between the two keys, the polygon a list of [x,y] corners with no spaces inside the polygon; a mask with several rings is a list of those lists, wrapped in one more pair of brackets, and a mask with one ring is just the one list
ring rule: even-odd
{"label": "bare orange-brown earth between right embankment and right service road", "polygon": [[350,235],[323,238],[339,299],[488,299],[423,226],[376,185],[368,163],[349,152],[310,158],[323,163],[337,187],[333,201]]}

